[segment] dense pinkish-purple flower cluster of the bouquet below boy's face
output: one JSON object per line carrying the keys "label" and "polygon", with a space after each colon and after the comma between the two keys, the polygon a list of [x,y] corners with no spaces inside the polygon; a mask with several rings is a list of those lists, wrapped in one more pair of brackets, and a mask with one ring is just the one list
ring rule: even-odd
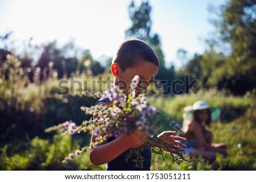
{"label": "dense pinkish-purple flower cluster of the bouquet below boy's face", "polygon": [[138,94],[139,79],[136,75],[131,81],[129,93],[133,94],[123,95],[118,86],[113,84],[106,95],[109,99],[107,105],[82,107],[86,114],[95,113],[92,125],[86,122],[83,126],[83,130],[90,127],[90,131],[93,131],[97,141],[95,145],[103,142],[105,136],[117,138],[123,133],[134,133],[137,129],[148,130],[147,117],[154,115],[157,109],[148,105],[146,96]]}

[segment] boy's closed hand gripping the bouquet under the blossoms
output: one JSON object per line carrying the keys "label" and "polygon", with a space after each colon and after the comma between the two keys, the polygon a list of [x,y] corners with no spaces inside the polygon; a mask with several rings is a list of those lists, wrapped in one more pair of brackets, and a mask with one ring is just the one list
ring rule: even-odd
{"label": "boy's closed hand gripping the bouquet under the blossoms", "polygon": [[147,141],[148,134],[146,131],[137,130],[134,134],[121,134],[119,139],[122,139],[123,145],[127,147],[127,149],[135,148],[143,145]]}

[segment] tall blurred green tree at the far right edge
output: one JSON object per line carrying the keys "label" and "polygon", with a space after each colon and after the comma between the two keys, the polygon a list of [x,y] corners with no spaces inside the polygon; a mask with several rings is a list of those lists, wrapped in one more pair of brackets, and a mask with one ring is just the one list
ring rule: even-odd
{"label": "tall blurred green tree at the far right edge", "polygon": [[218,9],[217,15],[219,19],[212,22],[219,39],[212,43],[218,43],[220,50],[228,44],[230,51],[228,55],[224,52],[223,64],[213,69],[210,82],[225,82],[223,86],[234,94],[244,94],[256,86],[256,1],[230,0]]}

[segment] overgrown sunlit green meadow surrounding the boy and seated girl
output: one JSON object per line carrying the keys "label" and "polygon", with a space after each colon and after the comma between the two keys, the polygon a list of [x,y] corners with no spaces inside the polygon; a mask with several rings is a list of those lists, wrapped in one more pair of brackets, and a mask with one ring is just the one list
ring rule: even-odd
{"label": "overgrown sunlit green meadow surrounding the boy and seated girl", "polygon": [[[99,76],[76,75],[77,80],[81,83],[88,81],[88,84],[82,87],[74,84],[72,95],[61,95],[57,94],[60,80],[54,76],[54,70],[50,70],[51,77],[43,80],[39,78],[39,71],[34,75],[34,82],[30,82],[29,70],[23,70],[15,57],[10,57],[0,69],[0,170],[105,170],[105,165],[90,163],[88,152],[68,163],[62,162],[71,151],[88,145],[89,134],[71,137],[60,132],[45,132],[49,126],[67,120],[80,124],[91,117],[86,116],[80,107],[94,105],[97,98],[79,91],[93,90],[90,83],[97,81]],[[108,76],[106,73],[103,78],[109,79]],[[211,130],[214,142],[227,143],[229,154],[225,158],[217,155],[218,164],[215,166],[203,162],[172,163],[168,153],[164,153],[164,158],[153,154],[151,170],[256,170],[255,98],[255,90],[243,96],[214,89],[179,96],[149,94],[151,105],[180,124],[183,108],[196,100],[203,99],[209,105],[220,107],[221,116],[212,123]],[[156,129],[172,128],[168,122],[159,121]]]}

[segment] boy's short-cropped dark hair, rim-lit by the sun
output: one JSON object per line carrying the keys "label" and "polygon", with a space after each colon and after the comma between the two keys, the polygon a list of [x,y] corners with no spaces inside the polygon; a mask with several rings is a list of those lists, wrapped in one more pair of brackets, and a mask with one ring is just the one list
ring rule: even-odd
{"label": "boy's short-cropped dark hair, rim-lit by the sun", "polygon": [[122,71],[125,71],[127,67],[134,67],[141,60],[159,66],[158,56],[147,43],[139,39],[131,39],[123,42],[118,47],[112,63],[117,63]]}

